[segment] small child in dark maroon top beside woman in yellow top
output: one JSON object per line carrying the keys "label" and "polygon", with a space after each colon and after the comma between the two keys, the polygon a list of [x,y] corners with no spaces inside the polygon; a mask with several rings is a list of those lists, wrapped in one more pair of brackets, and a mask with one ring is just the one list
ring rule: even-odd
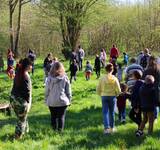
{"label": "small child in dark maroon top beside woman in yellow top", "polygon": [[121,84],[122,93],[117,97],[118,116],[121,123],[126,122],[126,100],[130,98],[130,94],[127,93],[127,84]]}

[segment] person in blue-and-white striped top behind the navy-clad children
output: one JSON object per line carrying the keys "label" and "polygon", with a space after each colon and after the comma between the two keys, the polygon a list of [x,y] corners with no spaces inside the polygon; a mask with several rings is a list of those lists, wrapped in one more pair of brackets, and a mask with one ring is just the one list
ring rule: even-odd
{"label": "person in blue-and-white striped top behind the navy-clad children", "polygon": [[131,90],[135,84],[135,80],[133,78],[134,71],[139,71],[140,74],[143,74],[143,68],[140,65],[136,64],[135,58],[131,58],[130,65],[125,70],[125,81],[128,85],[129,90]]}

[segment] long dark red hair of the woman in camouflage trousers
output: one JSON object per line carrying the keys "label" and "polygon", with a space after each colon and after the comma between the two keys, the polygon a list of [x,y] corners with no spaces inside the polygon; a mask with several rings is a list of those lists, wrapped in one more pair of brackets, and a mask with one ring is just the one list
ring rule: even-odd
{"label": "long dark red hair of the woman in camouflage trousers", "polygon": [[18,67],[18,71],[15,76],[15,85],[20,86],[22,82],[25,80],[25,71],[26,69],[32,65],[32,62],[28,58],[21,59],[19,61],[20,65]]}

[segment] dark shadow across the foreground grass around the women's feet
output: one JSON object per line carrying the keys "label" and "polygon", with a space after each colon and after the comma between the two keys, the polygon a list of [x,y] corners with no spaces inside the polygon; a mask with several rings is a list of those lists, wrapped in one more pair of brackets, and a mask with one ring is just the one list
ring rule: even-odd
{"label": "dark shadow across the foreground grass around the women's feet", "polygon": [[[101,108],[95,106],[82,109],[79,112],[68,111],[65,131],[62,134],[65,136],[65,142],[62,145],[58,145],[59,149],[98,149],[107,148],[109,145],[114,145],[120,149],[129,149],[143,144],[146,137],[135,137],[134,129],[126,129],[124,132],[122,130],[113,135],[103,135],[103,131],[99,127],[102,124],[101,115]],[[33,141],[45,140],[46,136],[53,137],[58,134],[50,126],[50,114],[35,114],[29,116],[28,120],[30,132],[23,141],[30,139]],[[1,120],[1,128],[8,124],[15,124],[15,119]],[[79,138],[79,136],[81,137]],[[158,136],[158,131],[154,132],[153,138]],[[0,136],[0,140],[9,140],[8,135]],[[54,143],[52,140],[51,142]]]}

